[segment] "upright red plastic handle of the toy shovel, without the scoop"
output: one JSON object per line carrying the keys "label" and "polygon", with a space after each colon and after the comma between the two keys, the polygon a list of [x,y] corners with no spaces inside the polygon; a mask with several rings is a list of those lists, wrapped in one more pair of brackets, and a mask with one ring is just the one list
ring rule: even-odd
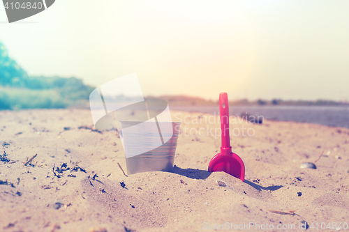
{"label": "upright red plastic handle of the toy shovel, without the scoop", "polygon": [[[221,130],[222,130],[222,146],[223,148],[230,148],[230,136],[229,136],[229,102],[228,94],[219,94],[219,114],[221,116]],[[231,152],[231,151],[230,151]]]}

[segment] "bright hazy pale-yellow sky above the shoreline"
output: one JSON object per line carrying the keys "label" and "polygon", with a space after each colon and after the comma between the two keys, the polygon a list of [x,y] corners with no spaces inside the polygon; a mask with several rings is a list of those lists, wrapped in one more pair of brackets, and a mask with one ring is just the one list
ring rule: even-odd
{"label": "bright hazy pale-yellow sky above the shoreline", "polygon": [[57,0],[0,41],[29,75],[100,86],[137,73],[144,95],[349,99],[349,1]]}

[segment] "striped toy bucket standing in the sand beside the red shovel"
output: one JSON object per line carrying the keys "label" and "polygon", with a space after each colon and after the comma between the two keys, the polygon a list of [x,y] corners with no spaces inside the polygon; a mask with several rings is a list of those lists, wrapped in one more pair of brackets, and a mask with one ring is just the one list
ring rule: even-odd
{"label": "striped toy bucket standing in the sand beside the red shovel", "polygon": [[[180,123],[121,121],[121,125],[123,128],[132,127],[131,131],[125,129],[120,131],[128,174],[172,170]],[[144,131],[145,128],[147,130]],[[170,129],[172,133],[161,133],[159,128],[166,128],[167,131]],[[148,151],[141,153],[143,150]],[[141,154],[133,155],[139,153]]]}

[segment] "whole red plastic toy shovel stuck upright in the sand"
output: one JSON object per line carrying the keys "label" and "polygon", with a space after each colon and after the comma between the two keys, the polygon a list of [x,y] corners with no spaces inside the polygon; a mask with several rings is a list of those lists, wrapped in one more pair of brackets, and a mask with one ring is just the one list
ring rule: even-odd
{"label": "whole red plastic toy shovel stuck upright in the sand", "polygon": [[232,153],[229,136],[228,94],[219,94],[219,114],[221,116],[222,146],[221,153],[209,162],[209,172],[224,171],[240,180],[245,180],[245,165],[239,155]]}

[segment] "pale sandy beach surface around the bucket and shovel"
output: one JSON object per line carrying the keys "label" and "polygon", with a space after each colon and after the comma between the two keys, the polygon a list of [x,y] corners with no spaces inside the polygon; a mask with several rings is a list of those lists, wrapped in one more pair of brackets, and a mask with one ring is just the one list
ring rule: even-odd
{"label": "pale sandy beach surface around the bucket and shovel", "polygon": [[[94,131],[89,110],[0,111],[0,155],[5,151],[9,160],[0,162],[0,231],[299,231],[302,221],[313,226],[307,231],[348,226],[348,129],[232,118],[231,129],[240,130],[230,139],[246,167],[243,183],[207,172],[221,146],[218,118],[172,114],[182,121],[174,170],[125,176],[117,165],[126,171],[118,132]],[[251,136],[242,135],[242,126]],[[322,151],[318,169],[300,168]],[[59,173],[57,167],[70,169]]]}

